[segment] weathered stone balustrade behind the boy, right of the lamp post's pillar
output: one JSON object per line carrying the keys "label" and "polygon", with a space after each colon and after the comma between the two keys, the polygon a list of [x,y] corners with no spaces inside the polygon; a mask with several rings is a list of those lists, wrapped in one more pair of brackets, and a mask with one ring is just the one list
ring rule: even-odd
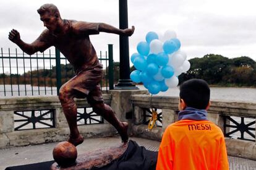
{"label": "weathered stone balustrade behind the boy, right of the lamp post's pillar", "polygon": [[[153,96],[151,106],[162,110],[163,126],[155,127],[148,131],[148,125],[142,124],[142,108],[149,108],[150,96],[134,95],[131,102],[134,107],[134,125],[132,132],[137,137],[149,138],[161,141],[164,129],[177,121],[177,106],[179,99],[175,97]],[[211,101],[211,107],[208,110],[208,119],[224,129],[223,115],[256,118],[256,103],[236,102],[236,101]],[[254,124],[255,127],[255,124]],[[256,143],[239,140],[234,138],[225,138],[228,155],[240,156],[242,158],[256,160]]]}

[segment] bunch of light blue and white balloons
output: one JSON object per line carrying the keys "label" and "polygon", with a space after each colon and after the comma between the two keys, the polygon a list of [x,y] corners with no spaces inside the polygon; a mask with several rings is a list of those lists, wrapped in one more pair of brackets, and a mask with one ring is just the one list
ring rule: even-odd
{"label": "bunch of light blue and white balloons", "polygon": [[167,30],[161,40],[157,33],[148,32],[146,41],[137,45],[138,53],[130,57],[137,69],[130,73],[130,79],[135,83],[142,82],[152,95],[176,87],[179,83],[177,76],[190,68],[187,55],[180,48],[181,41],[174,31]]}

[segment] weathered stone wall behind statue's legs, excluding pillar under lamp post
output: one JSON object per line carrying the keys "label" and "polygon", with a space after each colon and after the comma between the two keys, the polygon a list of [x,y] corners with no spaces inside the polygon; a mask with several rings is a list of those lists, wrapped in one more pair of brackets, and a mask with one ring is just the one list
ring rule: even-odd
{"label": "weathered stone wall behind statue's legs, excluding pillar under lamp post", "polygon": [[[111,95],[103,95],[105,103],[111,103]],[[90,107],[86,100],[76,100],[78,107]],[[54,109],[55,127],[50,129],[14,130],[14,111]],[[84,137],[111,136],[114,127],[104,124],[79,125]],[[66,140],[69,127],[62,112],[58,96],[30,96],[0,100],[0,148],[33,145]]]}

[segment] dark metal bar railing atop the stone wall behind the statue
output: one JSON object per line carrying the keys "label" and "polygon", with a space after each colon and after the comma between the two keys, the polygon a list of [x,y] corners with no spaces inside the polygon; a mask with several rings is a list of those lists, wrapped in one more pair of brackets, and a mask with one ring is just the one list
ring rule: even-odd
{"label": "dark metal bar railing atop the stone wall behind the statue", "polygon": [[[75,72],[58,49],[28,55],[17,49],[0,51],[0,96],[58,95],[59,88]],[[113,45],[98,54],[104,74],[101,90],[113,89]]]}

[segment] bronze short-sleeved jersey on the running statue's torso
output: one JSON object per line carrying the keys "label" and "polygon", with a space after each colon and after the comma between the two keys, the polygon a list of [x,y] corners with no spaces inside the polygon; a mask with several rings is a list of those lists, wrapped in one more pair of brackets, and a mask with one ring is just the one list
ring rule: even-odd
{"label": "bronze short-sleeved jersey on the running statue's torso", "polygon": [[90,41],[89,35],[99,34],[99,23],[64,20],[66,30],[64,33],[54,35],[46,29],[38,40],[46,43],[40,51],[45,51],[49,46],[55,46],[67,60],[74,66],[75,72],[89,70],[101,64],[96,56],[96,51]]}

